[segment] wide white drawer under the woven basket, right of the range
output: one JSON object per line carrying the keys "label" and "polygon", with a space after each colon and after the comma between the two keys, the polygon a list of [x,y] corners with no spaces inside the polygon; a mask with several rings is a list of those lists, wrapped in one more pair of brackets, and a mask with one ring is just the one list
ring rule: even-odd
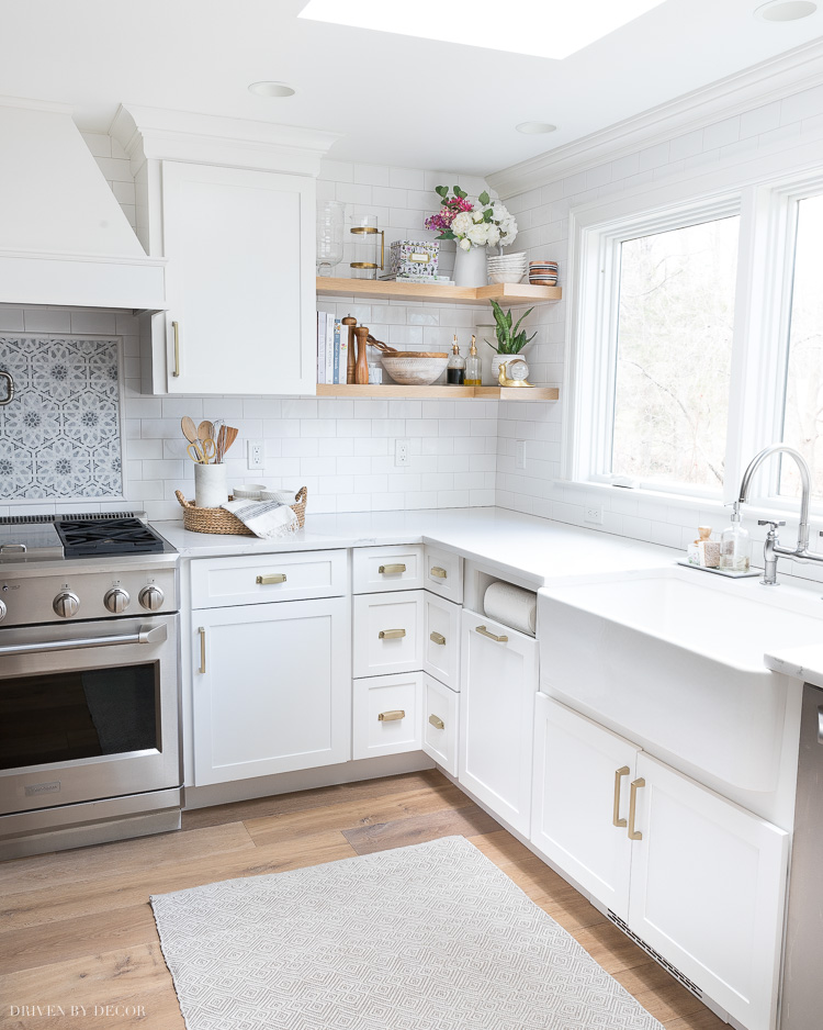
{"label": "wide white drawer under the woven basket, right of the range", "polygon": [[192,608],[312,601],[345,593],[345,550],[203,558],[191,563]]}

